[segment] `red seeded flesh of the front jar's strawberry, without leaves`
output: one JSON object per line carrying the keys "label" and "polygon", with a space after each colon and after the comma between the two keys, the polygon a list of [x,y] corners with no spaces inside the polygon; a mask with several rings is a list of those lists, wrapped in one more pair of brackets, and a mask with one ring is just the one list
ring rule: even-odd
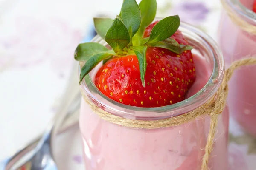
{"label": "red seeded flesh of the front jar's strawberry, without leaves", "polygon": [[[155,24],[148,26],[145,37]],[[180,31],[172,38],[187,44]],[[141,83],[137,57],[129,55],[113,58],[99,69],[95,79],[97,88],[117,102],[138,107],[160,107],[184,100],[195,81],[191,51],[175,54],[164,48],[149,47],[146,59],[145,87]]]}

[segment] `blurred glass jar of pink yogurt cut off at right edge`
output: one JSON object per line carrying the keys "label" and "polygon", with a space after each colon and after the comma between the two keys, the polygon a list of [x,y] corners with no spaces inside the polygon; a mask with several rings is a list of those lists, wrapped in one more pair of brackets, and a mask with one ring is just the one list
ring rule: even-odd
{"label": "blurred glass jar of pink yogurt cut off at right edge", "polygon": [[[255,34],[244,31],[230,19],[227,10],[236,20],[247,22],[247,28],[256,30],[256,13],[249,10],[253,0],[222,0],[224,11],[219,26],[218,42],[228,67],[231,62],[246,56],[256,55]],[[247,66],[233,74],[229,82],[227,103],[230,114],[241,127],[256,136],[256,66]],[[255,82],[255,83],[254,83]]]}

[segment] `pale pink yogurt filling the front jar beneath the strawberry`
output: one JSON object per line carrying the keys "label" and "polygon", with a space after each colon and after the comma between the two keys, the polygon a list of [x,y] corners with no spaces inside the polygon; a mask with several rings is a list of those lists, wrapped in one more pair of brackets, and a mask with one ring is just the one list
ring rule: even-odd
{"label": "pale pink yogurt filling the front jar beneath the strawberry", "polygon": [[[211,74],[194,57],[197,79],[189,90],[201,90]],[[86,170],[201,170],[209,117],[160,129],[131,129],[106,122],[82,99],[79,119]],[[219,117],[211,170],[227,170],[228,110]]]}

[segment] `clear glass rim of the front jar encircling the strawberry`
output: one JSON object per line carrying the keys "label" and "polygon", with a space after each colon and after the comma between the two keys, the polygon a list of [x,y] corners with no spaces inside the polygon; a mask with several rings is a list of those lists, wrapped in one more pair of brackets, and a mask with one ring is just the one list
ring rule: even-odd
{"label": "clear glass rim of the front jar encircling the strawberry", "polygon": [[[128,119],[165,119],[179,116],[200,107],[216,93],[222,82],[225,67],[223,55],[219,50],[216,42],[211,37],[209,37],[209,35],[199,30],[198,28],[195,28],[188,23],[181,22],[179,30],[182,31],[183,34],[185,31],[186,34],[189,34],[195,39],[200,39],[202,42],[204,42],[207,51],[210,51],[210,54],[213,58],[213,69],[209,80],[204,88],[198,91],[198,93],[195,95],[181,102],[157,108],[134,107],[116,102],[102,94],[98,88],[96,88],[89,74],[81,83],[82,93],[85,93],[89,99],[99,108],[102,108],[103,110],[108,111],[116,116],[121,116]],[[79,67],[79,74],[80,69],[81,68]]]}

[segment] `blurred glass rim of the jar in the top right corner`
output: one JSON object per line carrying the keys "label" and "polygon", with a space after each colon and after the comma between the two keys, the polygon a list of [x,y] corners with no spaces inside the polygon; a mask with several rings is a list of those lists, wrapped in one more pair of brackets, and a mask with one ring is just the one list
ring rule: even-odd
{"label": "blurred glass rim of the jar in the top right corner", "polygon": [[235,14],[247,20],[248,23],[256,25],[256,13],[244,6],[240,0],[224,0]]}

